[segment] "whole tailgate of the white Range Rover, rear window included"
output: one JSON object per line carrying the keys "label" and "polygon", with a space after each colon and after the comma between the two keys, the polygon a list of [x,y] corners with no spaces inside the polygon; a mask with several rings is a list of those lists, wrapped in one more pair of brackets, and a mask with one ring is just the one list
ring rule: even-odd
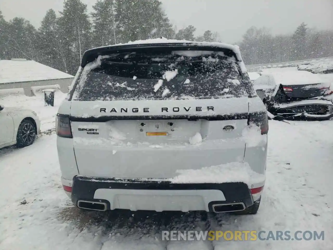
{"label": "whole tailgate of the white Range Rover, rear window included", "polygon": [[70,111],[80,175],[170,178],[243,160],[248,98],[235,56],[183,46],[125,46],[84,66]]}

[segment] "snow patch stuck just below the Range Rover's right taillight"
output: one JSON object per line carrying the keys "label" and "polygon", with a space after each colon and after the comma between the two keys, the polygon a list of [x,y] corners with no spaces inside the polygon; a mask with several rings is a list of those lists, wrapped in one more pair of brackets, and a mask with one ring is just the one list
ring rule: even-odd
{"label": "snow patch stuck just below the Range Rover's right taillight", "polygon": [[245,141],[246,147],[256,147],[267,142],[267,135],[261,134],[259,126],[251,124],[243,129],[242,139]]}

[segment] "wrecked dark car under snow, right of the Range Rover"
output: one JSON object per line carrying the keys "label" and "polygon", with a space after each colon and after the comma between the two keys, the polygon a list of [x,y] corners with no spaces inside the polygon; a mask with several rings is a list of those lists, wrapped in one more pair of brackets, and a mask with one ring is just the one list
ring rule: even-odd
{"label": "wrecked dark car under snow, right of the Range Rover", "polygon": [[310,72],[293,73],[263,74],[253,83],[271,119],[274,116],[285,120],[333,117],[331,84]]}

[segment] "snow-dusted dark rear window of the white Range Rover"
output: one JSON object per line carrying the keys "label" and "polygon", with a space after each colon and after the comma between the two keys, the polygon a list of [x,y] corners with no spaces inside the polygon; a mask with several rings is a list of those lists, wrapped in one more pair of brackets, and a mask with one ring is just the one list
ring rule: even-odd
{"label": "snow-dusted dark rear window of the white Range Rover", "polygon": [[100,56],[83,69],[73,99],[239,97],[240,82],[236,59],[223,52],[164,48]]}

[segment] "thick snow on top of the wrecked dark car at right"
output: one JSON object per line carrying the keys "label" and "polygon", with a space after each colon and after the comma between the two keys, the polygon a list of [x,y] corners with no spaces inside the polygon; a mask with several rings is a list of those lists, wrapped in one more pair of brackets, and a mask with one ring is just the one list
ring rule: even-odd
{"label": "thick snow on top of the wrecked dark car at right", "polygon": [[302,85],[326,83],[327,80],[318,74],[308,71],[300,71],[297,68],[265,69],[264,74],[274,76],[275,82],[282,85]]}

